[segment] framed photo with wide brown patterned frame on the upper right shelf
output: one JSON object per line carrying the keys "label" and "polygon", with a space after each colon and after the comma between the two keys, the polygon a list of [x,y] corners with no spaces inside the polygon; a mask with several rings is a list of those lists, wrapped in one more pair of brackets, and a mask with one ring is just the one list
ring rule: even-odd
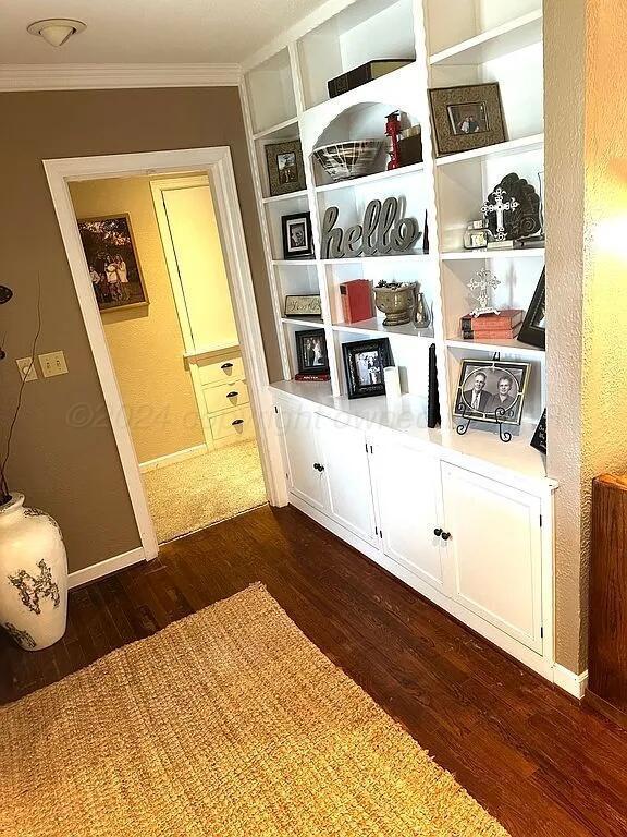
{"label": "framed photo with wide brown patterned frame on the upper right shelf", "polygon": [[499,84],[469,84],[429,90],[438,157],[504,143]]}

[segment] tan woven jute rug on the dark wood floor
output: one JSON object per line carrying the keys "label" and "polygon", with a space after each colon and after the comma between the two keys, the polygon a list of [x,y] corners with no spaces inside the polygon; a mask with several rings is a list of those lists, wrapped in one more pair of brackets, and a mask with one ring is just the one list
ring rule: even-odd
{"label": "tan woven jute rug on the dark wood floor", "polygon": [[506,837],[260,585],[0,709],[11,837]]}

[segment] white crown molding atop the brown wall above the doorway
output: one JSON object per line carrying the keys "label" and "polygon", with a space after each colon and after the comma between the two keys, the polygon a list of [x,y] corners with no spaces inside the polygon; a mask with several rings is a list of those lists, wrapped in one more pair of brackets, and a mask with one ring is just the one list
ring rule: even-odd
{"label": "white crown molding atop the brown wall above the doorway", "polygon": [[0,64],[0,92],[236,87],[239,64]]}

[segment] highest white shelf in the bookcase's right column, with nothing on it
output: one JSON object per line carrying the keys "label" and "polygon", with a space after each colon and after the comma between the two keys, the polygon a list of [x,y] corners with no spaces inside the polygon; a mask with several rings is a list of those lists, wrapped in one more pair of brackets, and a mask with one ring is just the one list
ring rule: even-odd
{"label": "highest white shelf in the bookcase's right column, with nothing on it", "polygon": [[431,65],[483,64],[542,40],[542,11],[529,12],[514,21],[455,44],[431,56]]}

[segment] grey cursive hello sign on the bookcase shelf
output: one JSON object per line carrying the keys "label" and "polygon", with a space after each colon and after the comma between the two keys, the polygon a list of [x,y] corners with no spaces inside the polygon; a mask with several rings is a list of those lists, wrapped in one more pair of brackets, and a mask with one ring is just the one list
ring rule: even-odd
{"label": "grey cursive hello sign on the bookcase shelf", "polygon": [[415,218],[402,218],[398,201],[388,197],[370,201],[364,213],[364,223],[347,230],[336,227],[340,210],[330,206],[322,219],[322,258],[355,256],[389,256],[406,253],[418,241],[420,229]]}

